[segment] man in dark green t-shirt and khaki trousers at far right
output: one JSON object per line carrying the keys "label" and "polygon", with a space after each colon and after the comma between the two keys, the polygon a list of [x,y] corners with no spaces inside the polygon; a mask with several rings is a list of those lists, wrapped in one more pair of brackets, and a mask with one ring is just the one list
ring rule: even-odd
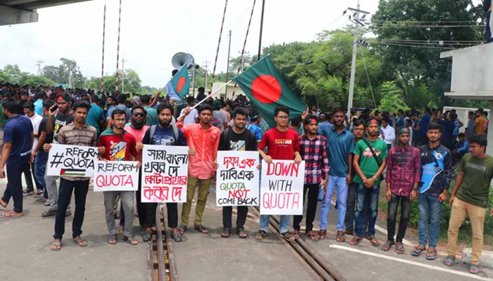
{"label": "man in dark green t-shirt and khaki trousers at far right", "polygon": [[[479,260],[482,251],[482,233],[485,228],[485,216],[488,208],[489,185],[493,178],[493,157],[485,152],[487,140],[485,135],[473,135],[468,138],[470,153],[462,157],[458,164],[459,174],[454,191],[450,196],[452,207],[449,221],[449,256],[444,260],[446,266],[453,266],[457,250],[458,228],[461,227],[466,214],[473,226],[473,255],[469,272],[480,272]],[[493,211],[490,214],[493,216]]]}

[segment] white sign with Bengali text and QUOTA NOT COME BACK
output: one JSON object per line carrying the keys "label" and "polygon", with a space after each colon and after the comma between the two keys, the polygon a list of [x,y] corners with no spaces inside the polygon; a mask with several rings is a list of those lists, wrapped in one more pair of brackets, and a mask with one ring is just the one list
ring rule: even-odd
{"label": "white sign with Bengali text and QUOTA NOT COME BACK", "polygon": [[257,164],[257,151],[218,151],[218,206],[258,206]]}

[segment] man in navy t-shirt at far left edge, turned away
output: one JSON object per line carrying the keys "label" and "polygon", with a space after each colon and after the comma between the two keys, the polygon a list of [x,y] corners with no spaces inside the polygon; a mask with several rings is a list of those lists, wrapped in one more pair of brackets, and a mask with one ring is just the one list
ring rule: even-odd
{"label": "man in navy t-shirt at far left edge, turned away", "polygon": [[[13,211],[1,214],[4,218],[23,216],[23,185],[22,171],[29,165],[33,140],[31,120],[19,115],[21,107],[18,101],[7,98],[2,102],[4,115],[8,121],[4,126],[4,151],[0,160],[0,178],[5,178],[4,166],[7,165],[8,183],[4,196],[0,199],[2,207],[6,208],[8,201],[13,199]],[[14,142],[15,140],[15,142]],[[4,156],[6,155],[6,156]]]}

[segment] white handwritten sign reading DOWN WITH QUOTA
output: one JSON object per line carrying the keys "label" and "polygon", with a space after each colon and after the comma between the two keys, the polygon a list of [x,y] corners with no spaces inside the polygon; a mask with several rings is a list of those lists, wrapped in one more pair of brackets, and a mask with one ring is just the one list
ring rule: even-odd
{"label": "white handwritten sign reading DOWN WITH QUOTA", "polygon": [[262,183],[260,188],[263,215],[303,214],[303,185],[305,162],[273,160],[262,161]]}

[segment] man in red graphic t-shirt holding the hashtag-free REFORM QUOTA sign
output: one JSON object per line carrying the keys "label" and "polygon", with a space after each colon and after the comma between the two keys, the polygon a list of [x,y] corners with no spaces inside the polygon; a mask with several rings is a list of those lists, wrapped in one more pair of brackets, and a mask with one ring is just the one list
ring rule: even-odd
{"label": "man in red graphic t-shirt holding the hashtag-free REFORM QUOTA sign", "polygon": [[[127,133],[123,128],[126,118],[125,111],[113,110],[111,113],[113,119],[113,129],[108,128],[99,137],[99,146],[106,149],[103,158],[109,161],[135,161],[137,150],[135,149],[135,137]],[[116,244],[116,223],[113,215],[113,205],[116,197],[120,196],[120,201],[125,213],[125,226],[123,227],[123,241],[136,245],[137,240],[133,237],[132,228],[134,221],[134,191],[105,191],[104,192],[104,211],[106,213],[106,225],[110,237],[109,244]],[[123,217],[120,219],[124,219]],[[121,230],[120,230],[121,231]],[[120,233],[118,233],[120,234]]]}

